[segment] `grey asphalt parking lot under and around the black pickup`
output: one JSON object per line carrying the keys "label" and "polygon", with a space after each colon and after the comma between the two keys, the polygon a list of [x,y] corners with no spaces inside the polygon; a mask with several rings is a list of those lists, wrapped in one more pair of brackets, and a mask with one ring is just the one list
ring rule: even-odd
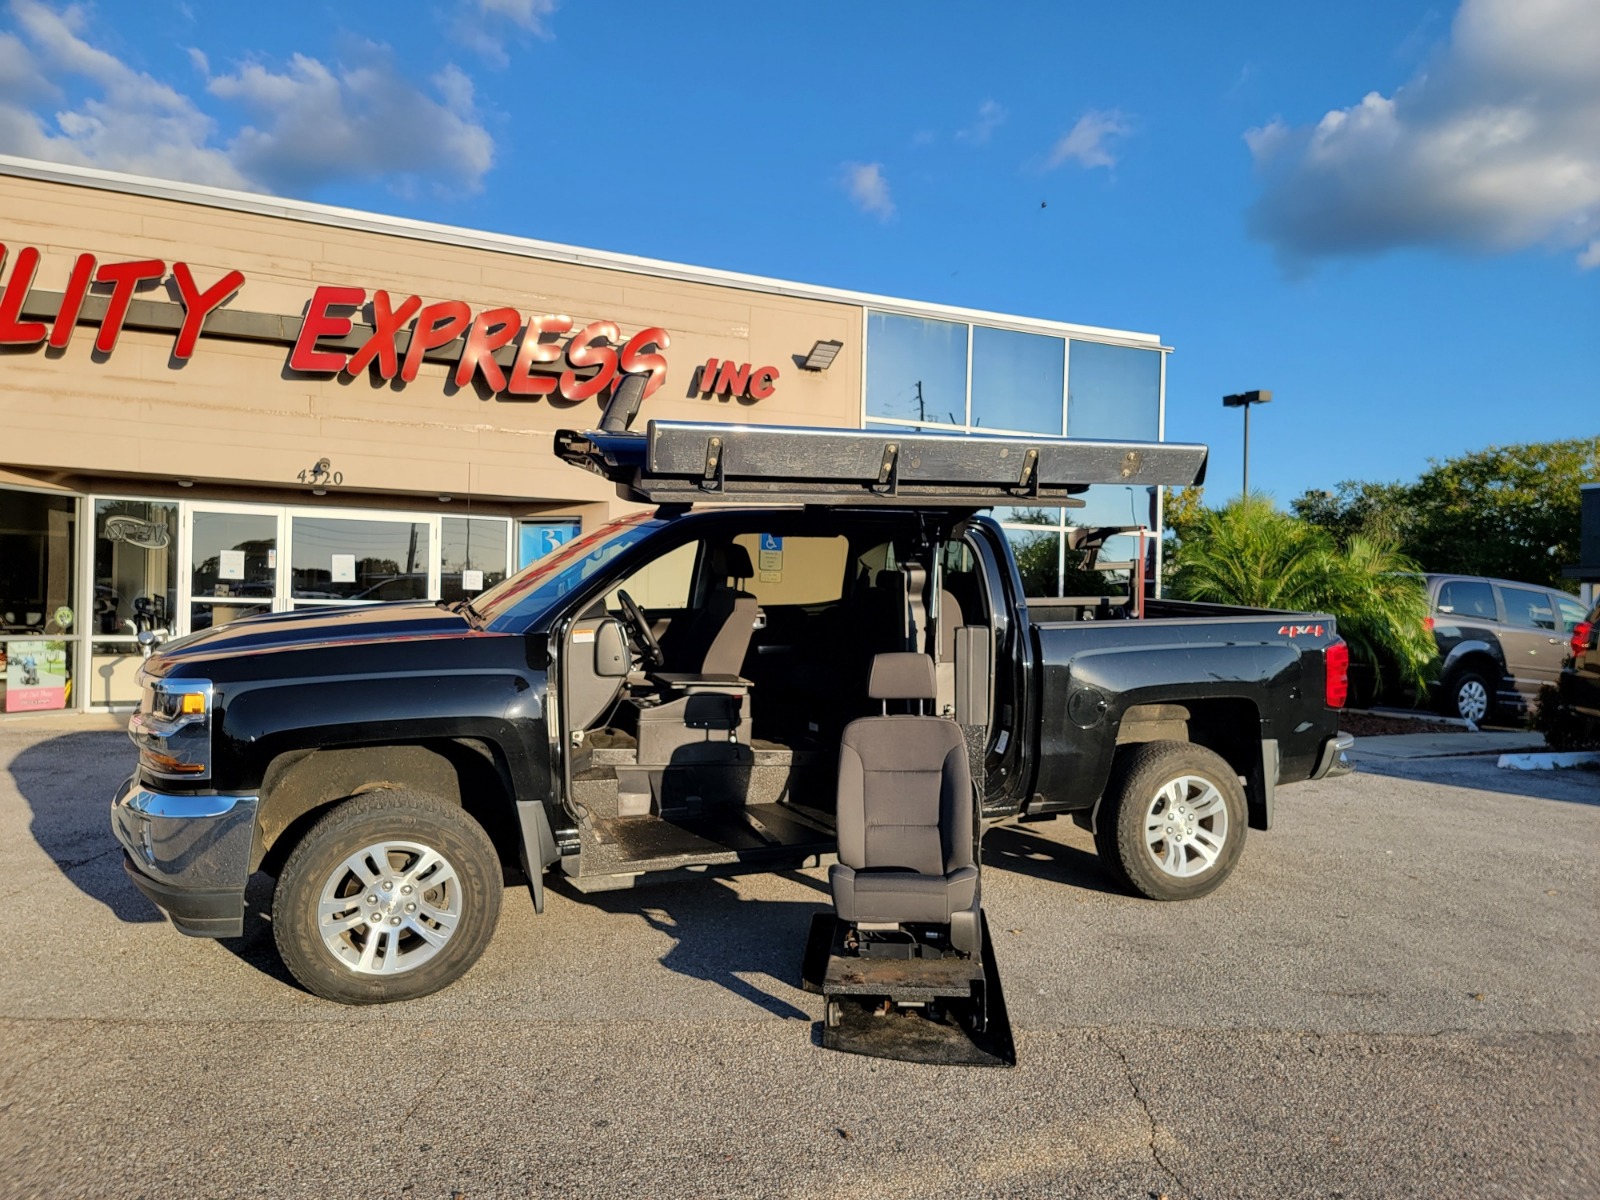
{"label": "grey asphalt parking lot under and around the black pickup", "polygon": [[821,1050],[821,870],[506,896],[454,987],[299,990],[258,878],[187,939],[107,830],[104,725],[0,730],[0,1195],[1600,1192],[1600,774],[1374,760],[1278,792],[1213,896],[1000,827],[1013,1070]]}

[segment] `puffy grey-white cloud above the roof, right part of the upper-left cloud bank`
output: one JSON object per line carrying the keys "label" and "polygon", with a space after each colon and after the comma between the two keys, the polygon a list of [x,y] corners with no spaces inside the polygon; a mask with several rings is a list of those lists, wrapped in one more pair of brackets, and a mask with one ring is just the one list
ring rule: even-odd
{"label": "puffy grey-white cloud above the roof, right part of the upper-left cloud bank", "polygon": [[402,187],[434,179],[474,192],[494,163],[494,142],[474,114],[472,82],[446,67],[432,83],[440,99],[368,45],[350,67],[294,54],[283,70],[246,62],[206,86],[254,118],[229,144],[229,157],[274,190],[304,192],[334,179]]}

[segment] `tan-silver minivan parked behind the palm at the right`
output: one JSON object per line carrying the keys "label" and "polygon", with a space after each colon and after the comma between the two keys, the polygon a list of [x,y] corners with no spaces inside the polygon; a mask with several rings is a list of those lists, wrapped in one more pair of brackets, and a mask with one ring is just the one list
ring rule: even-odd
{"label": "tan-silver minivan parked behind the palm at the right", "polygon": [[1438,643],[1438,699],[1474,722],[1520,712],[1562,675],[1578,597],[1541,584],[1475,574],[1429,574],[1429,626]]}

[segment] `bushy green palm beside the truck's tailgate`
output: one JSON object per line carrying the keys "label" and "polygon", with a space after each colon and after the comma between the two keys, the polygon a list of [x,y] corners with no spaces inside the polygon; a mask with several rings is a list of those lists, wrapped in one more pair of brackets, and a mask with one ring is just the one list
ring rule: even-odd
{"label": "bushy green palm beside the truck's tailgate", "polygon": [[1392,539],[1355,534],[1341,549],[1323,530],[1278,512],[1262,496],[1202,514],[1184,538],[1170,584],[1184,600],[1328,613],[1350,658],[1392,669],[1422,690],[1437,664],[1427,595],[1416,563]]}

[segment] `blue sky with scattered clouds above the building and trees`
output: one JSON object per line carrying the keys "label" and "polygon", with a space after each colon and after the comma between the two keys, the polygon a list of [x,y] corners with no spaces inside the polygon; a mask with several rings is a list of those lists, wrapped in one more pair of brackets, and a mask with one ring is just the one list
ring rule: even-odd
{"label": "blue sky with scattered clouds above the building and trees", "polygon": [[1595,62],[1595,0],[10,0],[0,152],[1158,333],[1288,502],[1600,434]]}

